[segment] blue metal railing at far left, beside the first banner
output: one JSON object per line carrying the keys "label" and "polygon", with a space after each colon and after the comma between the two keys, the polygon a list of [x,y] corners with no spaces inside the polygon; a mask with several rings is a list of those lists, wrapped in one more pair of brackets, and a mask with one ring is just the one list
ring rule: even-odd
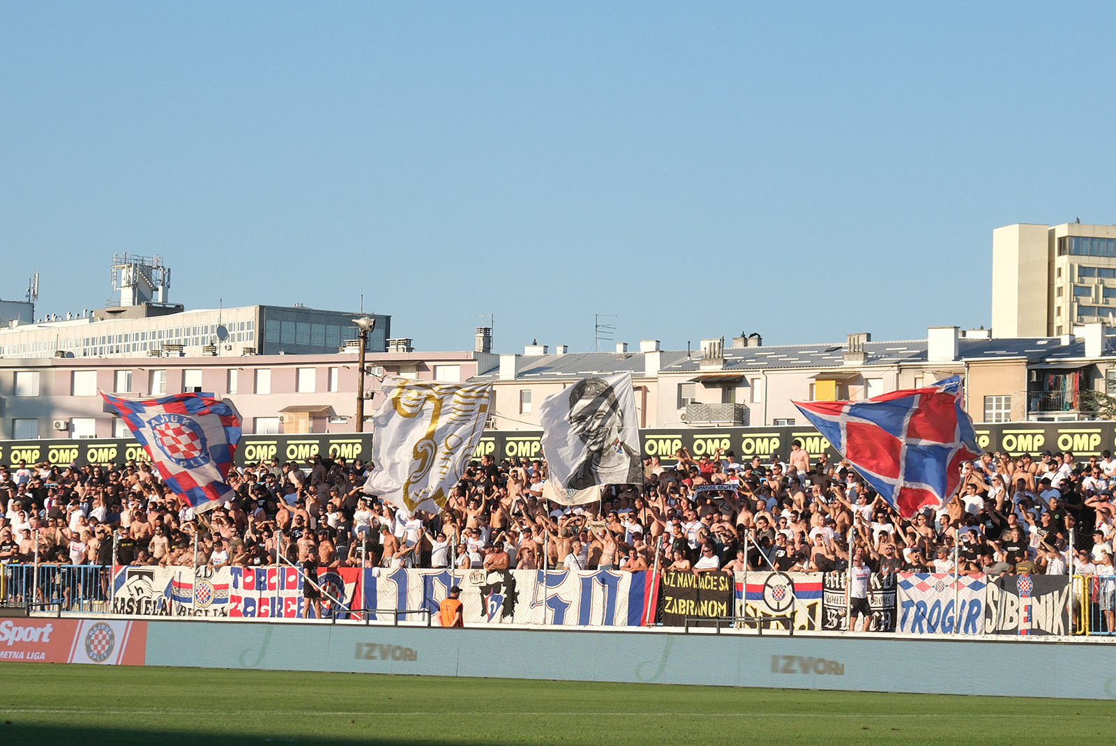
{"label": "blue metal railing at far left, beside the first banner", "polygon": [[6,564],[0,605],[60,604],[62,611],[107,613],[112,566],[95,564]]}

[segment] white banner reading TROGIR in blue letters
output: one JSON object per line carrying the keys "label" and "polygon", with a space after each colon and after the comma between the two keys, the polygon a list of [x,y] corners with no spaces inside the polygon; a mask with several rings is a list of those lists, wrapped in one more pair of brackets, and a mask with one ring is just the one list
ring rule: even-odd
{"label": "white banner reading TROGIR in blue letters", "polygon": [[987,587],[984,574],[958,575],[954,590],[952,574],[899,573],[895,631],[983,634]]}

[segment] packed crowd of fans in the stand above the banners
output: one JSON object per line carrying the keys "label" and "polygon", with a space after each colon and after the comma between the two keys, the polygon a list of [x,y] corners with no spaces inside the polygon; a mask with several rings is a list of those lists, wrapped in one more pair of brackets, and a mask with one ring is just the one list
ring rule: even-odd
{"label": "packed crowd of fans in the stand above the banners", "polygon": [[[793,445],[644,462],[642,485],[562,506],[545,461],[469,466],[439,513],[366,495],[369,466],[315,456],[234,467],[203,514],[145,463],[0,467],[0,562],[57,565],[615,569],[1113,575],[1116,461],[987,454],[941,510],[902,519],[848,466]],[[852,555],[850,555],[852,552]],[[115,556],[114,556],[115,555]]]}

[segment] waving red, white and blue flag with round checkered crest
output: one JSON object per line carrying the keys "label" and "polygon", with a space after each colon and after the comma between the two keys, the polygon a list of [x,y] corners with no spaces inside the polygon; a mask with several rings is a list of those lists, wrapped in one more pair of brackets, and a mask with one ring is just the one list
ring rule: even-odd
{"label": "waving red, white and blue flag with round checkered crest", "polygon": [[217,506],[240,442],[240,416],[212,394],[174,394],[156,399],[123,399],[102,393],[144,447],[160,476],[198,511]]}

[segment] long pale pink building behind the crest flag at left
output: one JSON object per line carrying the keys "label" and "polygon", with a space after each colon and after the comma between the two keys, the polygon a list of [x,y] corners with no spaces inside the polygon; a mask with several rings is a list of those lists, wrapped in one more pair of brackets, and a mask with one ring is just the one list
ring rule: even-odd
{"label": "long pale pink building behind the crest flag at left", "polygon": [[[498,365],[483,352],[369,352],[365,419],[385,375],[466,380]],[[357,349],[333,355],[0,360],[0,438],[128,437],[98,391],[125,397],[206,391],[230,400],[244,433],[356,430]],[[366,428],[371,429],[371,428]]]}

